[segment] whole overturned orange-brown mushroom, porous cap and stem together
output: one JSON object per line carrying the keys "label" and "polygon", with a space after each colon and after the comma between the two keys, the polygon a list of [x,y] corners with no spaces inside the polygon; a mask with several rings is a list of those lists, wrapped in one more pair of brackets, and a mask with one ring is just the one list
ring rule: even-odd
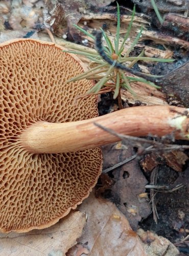
{"label": "whole overturned orange-brown mushroom, porous cap and stem together", "polygon": [[85,67],[62,50],[32,39],[0,45],[2,232],[49,227],[89,195],[102,170],[97,146],[119,140],[94,122],[133,136],[189,139],[182,108],[140,106],[97,117],[96,96],[75,101],[93,82],[66,82]]}

